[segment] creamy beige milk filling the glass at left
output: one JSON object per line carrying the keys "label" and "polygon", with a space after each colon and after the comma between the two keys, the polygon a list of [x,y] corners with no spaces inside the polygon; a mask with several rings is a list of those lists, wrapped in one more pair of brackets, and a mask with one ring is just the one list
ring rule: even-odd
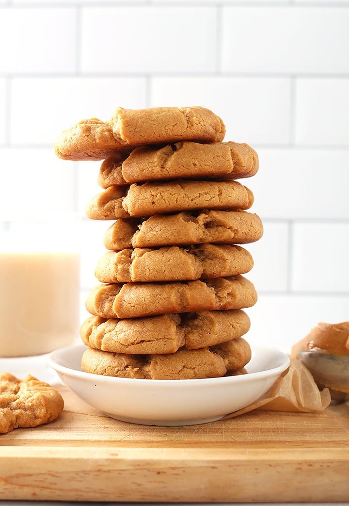
{"label": "creamy beige milk filling the glass at left", "polygon": [[78,335],[77,252],[0,252],[0,356],[39,355]]}

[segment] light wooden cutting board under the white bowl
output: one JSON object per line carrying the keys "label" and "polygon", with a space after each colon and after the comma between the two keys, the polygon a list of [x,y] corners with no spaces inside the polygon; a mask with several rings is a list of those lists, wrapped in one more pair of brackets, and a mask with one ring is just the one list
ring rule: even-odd
{"label": "light wooden cutting board under the white bowl", "polygon": [[53,423],[0,436],[0,499],[349,501],[349,403],[211,424],[126,424],[59,387]]}

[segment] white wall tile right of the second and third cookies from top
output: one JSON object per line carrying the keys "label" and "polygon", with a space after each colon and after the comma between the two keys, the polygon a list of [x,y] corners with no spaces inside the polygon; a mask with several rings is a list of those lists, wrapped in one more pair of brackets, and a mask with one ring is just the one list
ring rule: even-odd
{"label": "white wall tile right of the second and third cookies from top", "polygon": [[268,219],[349,219],[349,150],[259,148],[260,170],[247,186]]}

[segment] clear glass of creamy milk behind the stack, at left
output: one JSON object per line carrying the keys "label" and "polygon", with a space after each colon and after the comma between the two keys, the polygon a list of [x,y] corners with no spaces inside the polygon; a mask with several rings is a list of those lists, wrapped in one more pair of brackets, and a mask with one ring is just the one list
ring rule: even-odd
{"label": "clear glass of creamy milk behind the stack, at left", "polygon": [[0,358],[78,342],[80,253],[72,218],[15,219],[0,230]]}

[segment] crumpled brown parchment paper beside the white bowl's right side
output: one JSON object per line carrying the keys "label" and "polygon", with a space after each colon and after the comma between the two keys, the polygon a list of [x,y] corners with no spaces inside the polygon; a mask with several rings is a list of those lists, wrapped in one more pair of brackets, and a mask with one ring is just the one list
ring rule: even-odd
{"label": "crumpled brown parchment paper beside the white bowl's right side", "polygon": [[312,373],[297,358],[291,358],[288,369],[273,387],[256,402],[224,417],[232,418],[253,409],[290,411],[294,413],[323,411],[331,402],[328,388],[319,391]]}

